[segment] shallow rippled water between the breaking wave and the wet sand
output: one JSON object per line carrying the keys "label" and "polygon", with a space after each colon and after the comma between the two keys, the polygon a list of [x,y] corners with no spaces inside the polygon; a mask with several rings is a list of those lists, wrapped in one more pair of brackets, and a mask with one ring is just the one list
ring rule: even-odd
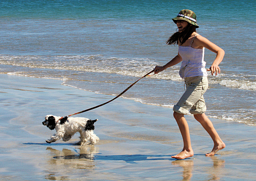
{"label": "shallow rippled water between the breaking wave and the wet sand", "polygon": [[[52,71],[52,70],[51,70]],[[50,71],[50,72],[51,72]],[[49,73],[50,73],[49,72]],[[63,74],[62,72],[61,74]],[[71,73],[72,72],[68,72]],[[116,79],[116,76],[120,76],[118,74],[108,74],[108,76],[105,76],[104,74],[100,76],[89,76],[88,73],[85,73],[85,77],[83,77],[84,74],[80,74],[80,78],[75,78],[73,79],[72,76],[70,77],[71,79],[65,79],[64,77],[59,77],[59,76],[53,76],[53,78],[47,77],[46,74],[41,74],[41,76],[35,76],[35,74],[30,74],[30,73],[22,73],[17,74],[17,73],[8,73],[9,75],[18,75],[18,76],[28,76],[28,77],[35,77],[35,78],[46,78],[46,79],[55,79],[55,80],[61,80],[63,85],[67,85],[76,89],[80,90],[85,90],[89,92],[94,92],[94,93],[100,93],[103,95],[118,95],[121,93],[125,88],[127,88],[129,85],[131,85],[131,82],[138,80],[135,77],[129,77],[131,80],[129,82],[125,82],[125,84],[118,84],[118,78]],[[64,73],[65,74],[65,73]],[[64,75],[63,74],[63,75]],[[34,76],[33,76],[34,75]],[[54,75],[50,73],[50,75]],[[103,76],[104,80],[100,78]],[[93,78],[93,79],[91,79]],[[120,77],[119,77],[120,78]],[[103,82],[108,82],[109,80],[114,79],[115,83],[114,84],[109,84],[109,83],[102,83]],[[121,78],[122,79],[122,78]],[[89,82],[87,82],[87,81]],[[209,79],[210,80],[210,79]],[[86,82],[80,82],[80,81],[86,81]],[[154,80],[152,78],[144,78],[140,82],[138,82],[135,86],[133,86],[129,91],[127,91],[124,95],[122,95],[122,98],[124,99],[129,99],[133,101],[138,101],[142,104],[148,104],[148,105],[157,105],[161,107],[173,107],[174,104],[177,103],[177,100],[180,99],[182,93],[183,93],[183,85],[180,84],[180,82],[172,82],[172,84],[168,84],[167,86],[163,85],[166,83],[163,80]],[[151,86],[154,88],[154,92],[148,93],[148,90],[152,90]],[[214,89],[211,89],[211,86],[214,85]],[[145,86],[145,87],[144,87]],[[177,87],[176,87],[177,86]],[[246,91],[246,90],[233,90],[227,87],[222,87],[218,84],[210,84],[209,85],[211,90],[207,91],[205,93],[205,100],[207,103],[207,112],[206,115],[210,118],[216,118],[216,119],[222,119],[222,120],[227,120],[227,121],[234,121],[238,123],[244,123],[248,124],[250,126],[256,126],[255,122],[255,109],[254,106],[248,107],[247,105],[253,104],[253,95],[254,92],[252,91]],[[97,87],[101,87],[101,89],[98,89]],[[175,89],[174,89],[175,88]],[[181,89],[179,89],[181,88]],[[147,90],[147,91],[144,91]],[[221,89],[220,92],[223,93],[218,93],[219,89]],[[178,91],[177,91],[178,90]],[[168,96],[169,93],[172,93],[172,96]],[[252,94],[251,94],[252,93]],[[223,96],[226,96],[225,94],[229,94],[232,96],[226,97],[226,99],[222,99]],[[249,94],[250,96],[245,96],[246,94]],[[164,97],[167,96],[167,99],[164,99]],[[139,97],[136,99],[136,97]],[[219,98],[218,98],[219,97]],[[239,99],[236,99],[237,105],[234,105],[233,99],[235,97],[240,97]],[[152,99],[154,98],[154,99]],[[232,99],[231,99],[232,98]],[[246,100],[246,101],[245,101]],[[226,102],[227,101],[227,102]],[[248,101],[248,102],[247,102]],[[214,104],[212,104],[214,103]],[[235,109],[234,109],[235,108]],[[246,116],[244,116],[246,115]]]}

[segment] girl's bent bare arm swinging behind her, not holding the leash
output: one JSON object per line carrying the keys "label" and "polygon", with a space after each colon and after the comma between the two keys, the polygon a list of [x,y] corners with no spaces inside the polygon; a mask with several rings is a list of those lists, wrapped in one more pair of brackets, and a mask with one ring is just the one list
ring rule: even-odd
{"label": "girl's bent bare arm swinging behind her, not holding the leash", "polygon": [[197,47],[203,46],[203,47],[206,47],[207,49],[211,50],[212,52],[216,53],[216,58],[213,61],[210,68],[207,69],[207,71],[211,71],[212,75],[214,72],[216,72],[215,73],[216,76],[217,76],[218,72],[221,73],[221,69],[219,68],[219,63],[221,63],[221,61],[224,57],[225,51],[201,35],[196,36],[196,39],[194,42]]}

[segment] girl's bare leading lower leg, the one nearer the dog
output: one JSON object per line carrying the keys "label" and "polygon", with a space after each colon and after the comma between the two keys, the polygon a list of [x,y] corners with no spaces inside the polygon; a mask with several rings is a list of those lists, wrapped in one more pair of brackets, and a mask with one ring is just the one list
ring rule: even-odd
{"label": "girl's bare leading lower leg, the one nearer the dog", "polygon": [[180,128],[184,146],[183,150],[179,154],[172,156],[172,158],[185,159],[188,157],[192,157],[194,155],[194,152],[191,147],[188,123],[184,118],[183,114],[174,112],[173,116],[178,123],[178,127]]}

